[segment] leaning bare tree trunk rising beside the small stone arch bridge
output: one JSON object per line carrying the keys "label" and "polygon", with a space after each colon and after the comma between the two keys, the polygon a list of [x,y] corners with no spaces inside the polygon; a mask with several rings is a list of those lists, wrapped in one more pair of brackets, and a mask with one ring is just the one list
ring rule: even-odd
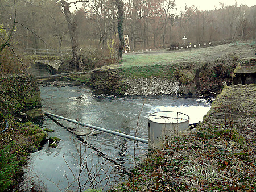
{"label": "leaning bare tree trunk rising beside the small stone arch bridge", "polygon": [[80,70],[82,68],[81,61],[80,61],[80,54],[79,54],[79,43],[77,39],[77,24],[75,18],[73,18],[70,10],[69,10],[69,4],[65,0],[61,0],[61,4],[63,6],[63,12],[65,15],[65,18],[68,23],[68,31],[69,31],[69,37],[71,40],[71,48],[72,48],[72,54],[73,59],[75,62],[75,67],[77,70]]}

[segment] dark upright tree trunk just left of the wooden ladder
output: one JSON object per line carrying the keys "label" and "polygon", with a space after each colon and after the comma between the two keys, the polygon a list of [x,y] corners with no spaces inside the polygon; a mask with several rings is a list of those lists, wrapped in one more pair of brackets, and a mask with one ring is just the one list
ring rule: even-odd
{"label": "dark upright tree trunk just left of the wooden ladder", "polygon": [[119,50],[118,50],[118,59],[123,59],[123,47],[125,45],[125,40],[123,39],[123,18],[124,18],[124,9],[122,0],[115,0],[115,3],[118,7],[118,19],[117,19],[117,28],[119,36]]}

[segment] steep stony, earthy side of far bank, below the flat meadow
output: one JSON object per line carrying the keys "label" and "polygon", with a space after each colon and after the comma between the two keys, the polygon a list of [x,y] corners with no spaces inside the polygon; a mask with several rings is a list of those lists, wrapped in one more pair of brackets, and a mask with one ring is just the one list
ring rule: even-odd
{"label": "steep stony, earthy side of far bank, below the flat meadow", "polygon": [[236,56],[226,55],[209,62],[132,68],[104,66],[94,69],[90,75],[65,78],[81,82],[101,93],[116,95],[216,96],[225,85],[233,84],[234,70],[244,63],[255,65],[255,58],[238,59]]}

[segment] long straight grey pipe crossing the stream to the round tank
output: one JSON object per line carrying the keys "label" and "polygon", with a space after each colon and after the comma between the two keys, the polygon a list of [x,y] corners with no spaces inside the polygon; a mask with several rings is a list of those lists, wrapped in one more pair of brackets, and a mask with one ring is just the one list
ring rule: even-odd
{"label": "long straight grey pipe crossing the stream to the round tank", "polygon": [[139,141],[139,142],[142,142],[142,143],[148,143],[148,141],[147,141],[146,139],[141,139],[141,138],[138,138],[138,137],[134,137],[134,136],[131,136],[131,135],[126,135],[126,134],[119,133],[119,132],[115,132],[115,131],[112,131],[112,130],[106,130],[105,128],[92,126],[92,125],[90,125],[90,124],[77,122],[76,120],[68,119],[68,118],[64,118],[63,116],[59,116],[59,115],[55,115],[55,114],[51,114],[51,113],[46,112],[46,111],[44,111],[44,114],[49,115],[49,116],[55,116],[56,118],[63,119],[63,120],[67,120],[68,122],[72,122],[72,123],[80,124],[81,126],[90,127],[90,128],[93,128],[94,130],[107,132],[107,133],[110,133],[110,134],[113,134],[113,135],[117,135],[117,136],[125,137],[125,138],[127,138],[127,139],[131,139],[131,140]]}

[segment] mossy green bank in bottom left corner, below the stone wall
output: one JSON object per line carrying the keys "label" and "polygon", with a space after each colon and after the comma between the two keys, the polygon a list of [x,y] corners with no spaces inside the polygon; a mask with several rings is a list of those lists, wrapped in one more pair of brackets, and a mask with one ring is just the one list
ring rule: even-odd
{"label": "mossy green bank in bottom left corner, below the stone wall", "polygon": [[7,191],[18,188],[22,166],[29,153],[38,150],[47,134],[31,122],[16,122],[11,115],[1,115],[0,130],[5,130],[0,135],[0,191]]}

